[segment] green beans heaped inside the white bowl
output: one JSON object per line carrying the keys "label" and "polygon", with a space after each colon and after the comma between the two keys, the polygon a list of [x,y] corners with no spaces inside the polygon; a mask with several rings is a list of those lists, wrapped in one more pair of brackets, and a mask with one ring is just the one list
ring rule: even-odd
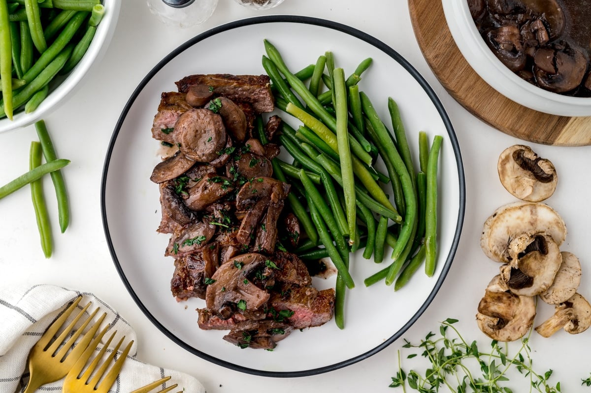
{"label": "green beans heaped inside the white bowl", "polygon": [[79,63],[105,14],[100,0],[0,0],[0,119],[33,112]]}

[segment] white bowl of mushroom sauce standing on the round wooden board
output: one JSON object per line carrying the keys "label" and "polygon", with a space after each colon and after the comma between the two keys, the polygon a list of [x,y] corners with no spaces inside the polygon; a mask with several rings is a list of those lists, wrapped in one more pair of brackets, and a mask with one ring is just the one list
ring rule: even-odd
{"label": "white bowl of mushroom sauce standing on the round wooden board", "polygon": [[457,47],[493,89],[527,108],[559,116],[591,116],[591,98],[564,96],[531,85],[512,73],[486,46],[470,15],[467,0],[441,0]]}

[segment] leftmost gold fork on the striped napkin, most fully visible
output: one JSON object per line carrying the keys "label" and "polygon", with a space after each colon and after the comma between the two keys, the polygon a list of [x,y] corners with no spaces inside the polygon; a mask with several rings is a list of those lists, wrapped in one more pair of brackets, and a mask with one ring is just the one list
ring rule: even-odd
{"label": "leftmost gold fork on the striped napkin, most fully visible", "polygon": [[[99,310],[96,308],[96,310],[84,321],[82,326],[80,326],[80,328],[77,329],[76,332],[72,334],[72,337],[66,342],[66,337],[72,332],[76,323],[90,306],[90,303],[88,303],[82,311],[74,317],[74,320],[63,329],[61,334],[52,341],[56,333],[64,326],[66,320],[70,314],[72,314],[72,311],[76,308],[78,303],[80,303],[80,300],[82,300],[82,296],[76,298],[74,303],[66,308],[63,314],[61,314],[61,316],[47,328],[46,332],[43,333],[43,336],[41,336],[31,349],[28,358],[30,377],[24,393],[33,393],[41,385],[49,384],[50,382],[55,382],[63,378],[68,371],[70,371],[80,355],[82,355],[82,352],[86,349],[90,340],[99,329],[100,323],[105,318],[106,313],[103,314],[92,327],[90,327],[89,334],[85,334],[80,342],[74,346],[80,333],[86,329],[90,321],[95,317]],[[72,346],[74,346],[73,349]],[[70,349],[72,350],[68,352]]]}

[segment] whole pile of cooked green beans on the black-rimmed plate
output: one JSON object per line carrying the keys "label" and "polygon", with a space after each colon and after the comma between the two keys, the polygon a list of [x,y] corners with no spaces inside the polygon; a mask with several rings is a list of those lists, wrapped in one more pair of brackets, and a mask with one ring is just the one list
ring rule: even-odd
{"label": "whole pile of cooked green beans on the black-rimmed plate", "polygon": [[[345,290],[355,285],[349,273],[351,252],[363,249],[363,258],[379,264],[392,248],[391,263],[366,278],[368,286],[384,280],[399,290],[423,264],[428,276],[434,274],[437,164],[443,138],[436,135],[430,148],[426,132],[418,132],[415,169],[397,103],[388,99],[391,132],[360,89],[371,58],[345,77],[333,54],[326,52],[303,78],[288,69],[268,40],[264,46],[262,65],[274,86],[277,108],[303,124],[296,130],[282,122],[277,137],[293,164],[274,159],[278,178],[285,181],[284,173],[290,177],[290,194],[297,200],[297,206],[290,202],[291,209],[300,221],[313,224],[311,233],[303,225],[308,239],[296,253],[305,260],[332,259],[337,269],[335,321],[342,329]],[[263,142],[268,142],[266,137]],[[387,174],[375,170],[378,160]]]}

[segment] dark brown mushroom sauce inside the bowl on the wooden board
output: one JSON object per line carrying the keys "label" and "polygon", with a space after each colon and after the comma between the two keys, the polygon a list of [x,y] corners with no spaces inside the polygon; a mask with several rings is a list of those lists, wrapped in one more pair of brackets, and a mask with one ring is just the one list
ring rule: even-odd
{"label": "dark brown mushroom sauce inside the bowl on the wooden board", "polygon": [[533,85],[591,97],[591,0],[467,0],[492,52]]}

